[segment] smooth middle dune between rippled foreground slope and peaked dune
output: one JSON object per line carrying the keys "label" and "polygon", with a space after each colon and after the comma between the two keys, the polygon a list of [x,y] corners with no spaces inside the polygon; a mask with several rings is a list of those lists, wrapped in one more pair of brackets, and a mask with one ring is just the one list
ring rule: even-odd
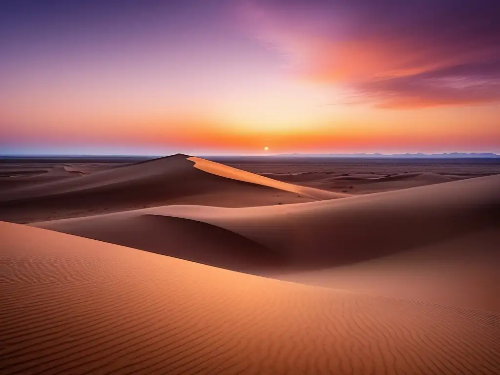
{"label": "smooth middle dune between rippled foreground slope and peaked dune", "polygon": [[253,274],[500,311],[498,191],[493,175],[300,204],[173,205],[34,225]]}

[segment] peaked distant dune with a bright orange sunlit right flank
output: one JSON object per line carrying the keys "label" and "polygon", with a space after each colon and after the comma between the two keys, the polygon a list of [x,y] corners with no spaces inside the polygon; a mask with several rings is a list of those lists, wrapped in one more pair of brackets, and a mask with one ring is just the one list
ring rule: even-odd
{"label": "peaked distant dune with a bright orange sunlit right flank", "polygon": [[[186,155],[173,155],[78,177],[0,192],[0,218],[33,222],[172,203],[253,206],[343,197],[344,194],[285,184],[235,171],[225,175],[193,167]],[[202,165],[202,159],[196,163]],[[209,162],[207,162],[209,163]],[[203,164],[205,165],[205,164]],[[209,163],[210,170],[216,163]],[[61,167],[66,173],[69,172]]]}

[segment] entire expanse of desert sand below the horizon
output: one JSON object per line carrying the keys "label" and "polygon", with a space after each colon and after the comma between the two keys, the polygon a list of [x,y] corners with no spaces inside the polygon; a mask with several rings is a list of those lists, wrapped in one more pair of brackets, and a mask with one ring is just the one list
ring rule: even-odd
{"label": "entire expanse of desert sand below the horizon", "polygon": [[0,373],[500,372],[496,165],[80,161],[0,165]]}

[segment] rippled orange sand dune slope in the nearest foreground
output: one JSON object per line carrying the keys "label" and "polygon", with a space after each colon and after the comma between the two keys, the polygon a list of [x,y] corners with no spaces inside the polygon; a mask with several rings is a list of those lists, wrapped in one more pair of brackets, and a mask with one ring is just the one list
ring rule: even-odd
{"label": "rippled orange sand dune slope in the nearest foreground", "polygon": [[0,223],[0,370],[494,375],[500,315]]}

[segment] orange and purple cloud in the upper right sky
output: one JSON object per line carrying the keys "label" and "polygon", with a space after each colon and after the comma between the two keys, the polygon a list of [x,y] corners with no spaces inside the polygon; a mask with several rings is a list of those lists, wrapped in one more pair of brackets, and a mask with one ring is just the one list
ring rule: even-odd
{"label": "orange and purple cloud in the upper right sky", "polygon": [[253,0],[258,37],[379,106],[500,101],[500,1]]}

